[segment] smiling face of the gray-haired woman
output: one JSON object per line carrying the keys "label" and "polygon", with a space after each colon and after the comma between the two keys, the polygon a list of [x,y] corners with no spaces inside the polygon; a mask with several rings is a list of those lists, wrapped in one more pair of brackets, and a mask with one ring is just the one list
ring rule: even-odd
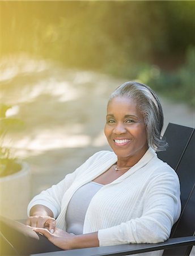
{"label": "smiling face of the gray-haired woman", "polygon": [[104,133],[118,158],[138,162],[149,147],[143,116],[136,102],[125,96],[109,102]]}

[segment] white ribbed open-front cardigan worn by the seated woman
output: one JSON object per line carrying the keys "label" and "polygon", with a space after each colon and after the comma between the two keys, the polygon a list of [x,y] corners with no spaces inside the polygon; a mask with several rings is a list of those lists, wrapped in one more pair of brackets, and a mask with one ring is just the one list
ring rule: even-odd
{"label": "white ribbed open-front cardigan worn by the seated woman", "polygon": [[[66,230],[65,214],[74,192],[103,174],[117,156],[100,151],[57,185],[35,196],[28,205],[52,210],[58,228]],[[158,243],[167,240],[180,216],[180,183],[176,172],[152,148],[124,175],[104,185],[92,198],[83,233],[98,231],[100,246]]]}

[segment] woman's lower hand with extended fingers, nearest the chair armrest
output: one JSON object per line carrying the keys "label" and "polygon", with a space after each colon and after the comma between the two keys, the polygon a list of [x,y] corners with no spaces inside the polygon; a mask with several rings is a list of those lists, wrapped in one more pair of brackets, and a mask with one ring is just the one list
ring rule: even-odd
{"label": "woman's lower hand with extended fingers, nearest the chair armrest", "polygon": [[76,237],[74,234],[69,234],[58,228],[56,228],[53,234],[48,229],[33,228],[33,230],[43,234],[50,242],[62,250],[71,250],[74,248],[74,237]]}

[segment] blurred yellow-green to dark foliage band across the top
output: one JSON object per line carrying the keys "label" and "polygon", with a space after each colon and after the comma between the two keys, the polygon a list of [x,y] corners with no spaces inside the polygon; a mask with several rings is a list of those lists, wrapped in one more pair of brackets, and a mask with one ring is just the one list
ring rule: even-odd
{"label": "blurred yellow-green to dark foliage band across the top", "polygon": [[193,1],[4,1],[0,7],[2,53],[28,51],[69,67],[150,60],[195,41]]}

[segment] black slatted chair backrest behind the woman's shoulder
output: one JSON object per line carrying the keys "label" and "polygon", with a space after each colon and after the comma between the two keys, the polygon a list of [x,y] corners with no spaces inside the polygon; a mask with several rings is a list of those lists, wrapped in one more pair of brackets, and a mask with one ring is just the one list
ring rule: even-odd
{"label": "black slatted chair backrest behind the woman's shoulder", "polygon": [[[194,236],[195,232],[195,132],[193,128],[169,123],[165,133],[169,147],[158,152],[176,172],[181,185],[182,211],[172,228],[172,237]],[[163,255],[189,255],[192,246],[166,250]]]}

